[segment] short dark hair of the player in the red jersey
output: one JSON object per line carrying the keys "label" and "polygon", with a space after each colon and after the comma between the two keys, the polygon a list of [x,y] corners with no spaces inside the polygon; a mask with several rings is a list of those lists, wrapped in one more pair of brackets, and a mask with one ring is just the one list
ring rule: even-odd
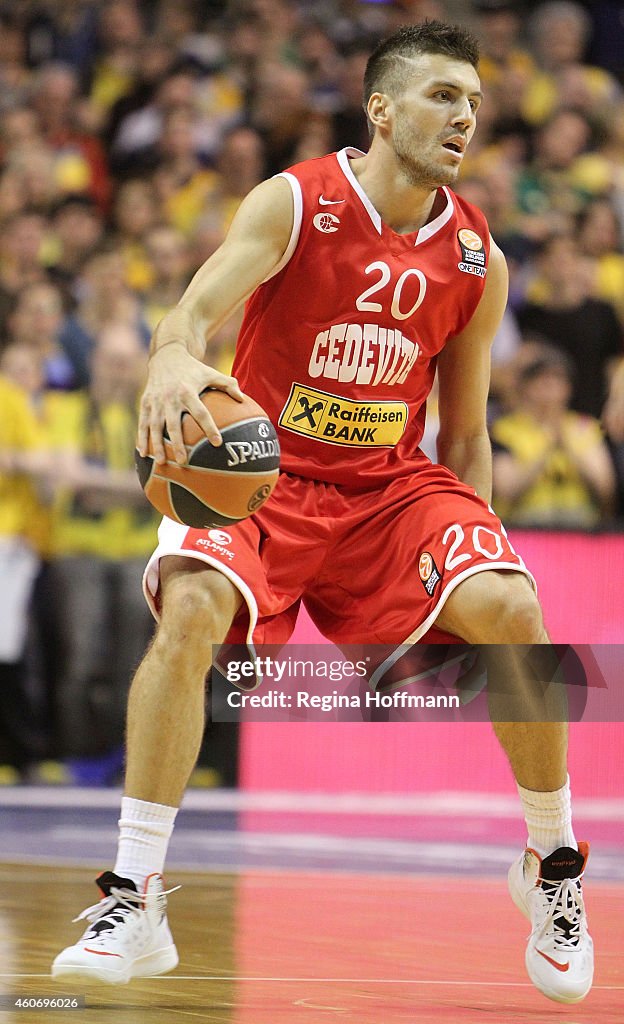
{"label": "short dark hair of the player in the red jersey", "polygon": [[373,92],[386,92],[388,95],[401,92],[406,75],[402,61],[397,58],[413,57],[418,53],[441,53],[456,60],[465,60],[475,70],[479,67],[479,42],[462,26],[435,20],[404,25],[383,39],[368,59],[364,73],[365,110]]}

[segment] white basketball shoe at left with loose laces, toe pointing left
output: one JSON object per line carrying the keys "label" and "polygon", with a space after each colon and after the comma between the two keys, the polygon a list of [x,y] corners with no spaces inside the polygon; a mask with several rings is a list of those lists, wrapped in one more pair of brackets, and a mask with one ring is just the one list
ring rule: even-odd
{"label": "white basketball shoe at left with loose laces, toe pointing left", "polygon": [[99,903],[74,919],[86,918],[89,927],[75,945],[58,954],[52,977],[73,975],[124,985],[131,978],[172,971],[178,955],[167,924],[162,874],[150,874],[141,893],[130,879],[113,871],[100,874],[96,885],[102,894]]}

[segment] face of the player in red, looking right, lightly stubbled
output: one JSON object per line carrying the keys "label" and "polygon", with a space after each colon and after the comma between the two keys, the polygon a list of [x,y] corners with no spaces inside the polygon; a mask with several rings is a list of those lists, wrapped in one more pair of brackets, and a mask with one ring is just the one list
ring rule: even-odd
{"label": "face of the player in red, looking right, lightly stubbled", "polygon": [[410,184],[453,184],[475,128],[482,100],[471,65],[423,54],[393,103],[391,140]]}

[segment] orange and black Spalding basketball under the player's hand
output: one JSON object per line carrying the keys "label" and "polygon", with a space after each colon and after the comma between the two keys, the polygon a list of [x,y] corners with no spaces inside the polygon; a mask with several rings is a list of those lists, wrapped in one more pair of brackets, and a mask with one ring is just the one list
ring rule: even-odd
{"label": "orange and black Spalding basketball under the player's hand", "polygon": [[202,529],[233,526],[264,504],[278,482],[280,442],[264,410],[245,395],[240,402],[223,391],[200,395],[223,443],[210,443],[196,421],[182,414],[188,464],[179,466],[165,432],[167,462],[135,452],[136,470],[152,505],[163,515]]}

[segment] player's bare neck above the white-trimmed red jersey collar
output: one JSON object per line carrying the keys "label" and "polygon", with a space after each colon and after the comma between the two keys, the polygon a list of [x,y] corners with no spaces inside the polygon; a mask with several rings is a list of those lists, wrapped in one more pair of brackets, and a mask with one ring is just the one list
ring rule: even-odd
{"label": "player's bare neck above the white-trimmed red jersey collar", "polygon": [[438,190],[412,185],[398,164],[390,164],[373,146],[365,157],[349,161],[360,185],[381,219],[399,234],[417,231],[431,219]]}

